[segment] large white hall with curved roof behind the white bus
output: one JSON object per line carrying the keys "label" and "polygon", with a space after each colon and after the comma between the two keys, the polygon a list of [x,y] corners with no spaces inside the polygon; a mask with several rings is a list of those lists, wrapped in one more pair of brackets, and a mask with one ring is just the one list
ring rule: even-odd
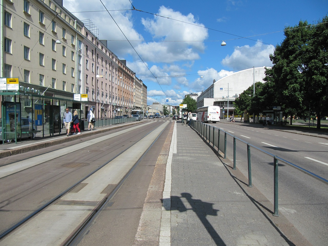
{"label": "large white hall with curved roof behind the white bus", "polygon": [[265,67],[250,68],[213,80],[213,84],[197,97],[197,108],[203,106],[220,106],[220,117],[223,118],[222,109],[229,108],[228,115],[235,110],[233,102],[238,95],[252,86],[254,82],[262,82],[265,77]]}

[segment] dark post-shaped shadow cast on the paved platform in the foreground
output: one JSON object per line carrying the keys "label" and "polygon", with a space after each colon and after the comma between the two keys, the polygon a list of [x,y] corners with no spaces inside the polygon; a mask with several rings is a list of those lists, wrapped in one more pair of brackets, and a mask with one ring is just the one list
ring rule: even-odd
{"label": "dark post-shaped shadow cast on the paved platform in the foreground", "polygon": [[[166,206],[165,204],[167,204],[167,202],[165,199],[163,201],[163,205],[166,210],[171,211],[177,210],[179,212],[186,212],[187,210],[193,210],[209,235],[212,237],[215,244],[225,246],[226,244],[223,242],[222,238],[217,234],[211,223],[206,218],[207,215],[217,216],[217,212],[219,210],[213,209],[214,203],[203,202],[200,199],[193,199],[192,197],[193,196],[189,193],[181,193],[181,196],[171,196],[172,204],[174,204],[173,206]],[[185,198],[192,208],[187,209],[181,198]]]}

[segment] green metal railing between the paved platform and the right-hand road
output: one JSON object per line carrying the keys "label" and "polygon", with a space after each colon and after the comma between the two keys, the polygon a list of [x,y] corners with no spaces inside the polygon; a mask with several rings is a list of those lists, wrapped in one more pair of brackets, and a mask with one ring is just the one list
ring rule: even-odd
{"label": "green metal railing between the paved platform and the right-hand road", "polygon": [[[246,144],[247,146],[247,165],[248,165],[248,187],[253,187],[252,185],[252,168],[251,168],[251,148],[260,151],[270,157],[273,158],[273,166],[274,166],[274,216],[279,216],[278,214],[278,161],[285,163],[311,177],[318,179],[319,181],[328,184],[328,180],[314,174],[304,168],[301,168],[289,161],[286,161],[280,158],[277,155],[271,154],[265,150],[262,150],[250,143],[245,142],[244,140],[232,135],[231,133],[227,133],[226,131],[217,128],[215,126],[211,126],[209,124],[205,124],[200,121],[192,120],[191,127],[199,134],[200,137],[204,138],[209,145],[212,145],[213,148],[217,148],[217,151],[221,151],[223,153],[223,158],[227,158],[227,136],[233,137],[233,170],[236,170],[236,140],[241,143]],[[224,134],[224,138],[220,137]]]}

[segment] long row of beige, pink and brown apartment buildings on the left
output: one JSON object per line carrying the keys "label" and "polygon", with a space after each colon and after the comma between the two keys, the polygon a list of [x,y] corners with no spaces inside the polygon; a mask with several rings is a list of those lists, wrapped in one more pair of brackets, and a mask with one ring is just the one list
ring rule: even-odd
{"label": "long row of beige, pink and brown apartment buildings on the left", "polygon": [[126,61],[61,0],[0,1],[0,117],[11,107],[19,117],[32,112],[33,124],[49,136],[62,130],[66,107],[77,110],[81,119],[93,108],[99,119],[125,114],[143,101],[147,92],[134,101],[139,85],[136,89],[135,73]]}

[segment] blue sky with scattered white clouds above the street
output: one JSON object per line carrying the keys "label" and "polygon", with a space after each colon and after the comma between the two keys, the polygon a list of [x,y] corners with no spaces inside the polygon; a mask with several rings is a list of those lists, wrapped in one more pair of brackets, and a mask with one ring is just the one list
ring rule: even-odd
{"label": "blue sky with scattered white clouds above the street", "polygon": [[[178,105],[240,70],[272,66],[283,30],[316,24],[328,0],[64,0],[147,86],[147,104]],[[221,46],[222,42],[226,46]],[[250,85],[251,86],[251,85]]]}

